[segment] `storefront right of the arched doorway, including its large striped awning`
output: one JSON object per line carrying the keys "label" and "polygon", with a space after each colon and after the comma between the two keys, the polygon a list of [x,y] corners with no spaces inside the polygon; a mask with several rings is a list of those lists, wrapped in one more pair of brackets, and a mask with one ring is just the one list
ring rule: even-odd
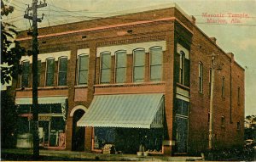
{"label": "storefront right of the arched doorway, including its large striped awning", "polygon": [[77,125],[94,128],[95,151],[113,144],[124,154],[162,153],[164,114],[162,93],[98,95]]}

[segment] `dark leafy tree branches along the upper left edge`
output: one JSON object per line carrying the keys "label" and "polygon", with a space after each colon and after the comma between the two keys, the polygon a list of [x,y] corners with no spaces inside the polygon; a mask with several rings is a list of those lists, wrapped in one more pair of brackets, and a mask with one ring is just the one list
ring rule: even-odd
{"label": "dark leafy tree branches along the upper left edge", "polygon": [[[14,7],[6,5],[1,0],[1,20],[14,11]],[[1,21],[1,83],[9,83],[20,72],[19,62],[26,50],[20,46],[20,42],[15,41],[18,31],[15,25]]]}

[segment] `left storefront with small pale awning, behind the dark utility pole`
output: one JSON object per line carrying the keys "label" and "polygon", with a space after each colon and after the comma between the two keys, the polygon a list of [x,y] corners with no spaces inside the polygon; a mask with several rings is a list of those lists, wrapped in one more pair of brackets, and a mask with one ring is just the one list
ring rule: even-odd
{"label": "left storefront with small pale awning, behind the dark utility pole", "polygon": [[[18,135],[32,134],[32,98],[16,98],[15,103],[18,105],[20,123],[17,130]],[[66,97],[38,98],[40,147],[66,148],[66,122]],[[18,142],[20,143],[19,139]],[[17,147],[22,147],[22,145],[19,144]]]}

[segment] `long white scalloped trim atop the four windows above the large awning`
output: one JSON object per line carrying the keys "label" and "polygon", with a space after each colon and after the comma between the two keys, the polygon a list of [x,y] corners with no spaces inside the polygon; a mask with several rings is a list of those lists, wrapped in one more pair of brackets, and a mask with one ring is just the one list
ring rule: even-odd
{"label": "long white scalloped trim atop the four windows above the large awning", "polygon": [[114,55],[116,51],[125,50],[127,54],[132,54],[132,51],[137,48],[144,48],[145,53],[149,52],[149,48],[160,46],[163,51],[166,51],[166,41],[157,41],[157,42],[140,42],[132,44],[122,44],[117,46],[108,46],[108,47],[97,47],[96,48],[96,57],[100,57],[103,52],[110,52],[111,55]]}

